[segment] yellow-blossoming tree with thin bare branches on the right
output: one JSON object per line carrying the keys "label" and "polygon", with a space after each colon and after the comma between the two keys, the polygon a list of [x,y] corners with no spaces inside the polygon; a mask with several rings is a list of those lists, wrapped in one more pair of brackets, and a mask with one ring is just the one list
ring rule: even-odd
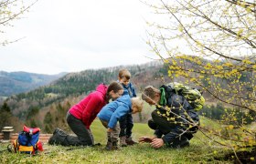
{"label": "yellow-blossoming tree with thin bare branches on the right", "polygon": [[[255,0],[158,0],[145,4],[156,14],[156,21],[148,23],[147,44],[168,64],[170,78],[183,77],[187,85],[201,87],[208,99],[240,108],[244,115],[255,113]],[[229,135],[224,138],[227,142],[219,144],[235,150],[256,146],[255,132],[243,125],[236,128],[242,133]]]}

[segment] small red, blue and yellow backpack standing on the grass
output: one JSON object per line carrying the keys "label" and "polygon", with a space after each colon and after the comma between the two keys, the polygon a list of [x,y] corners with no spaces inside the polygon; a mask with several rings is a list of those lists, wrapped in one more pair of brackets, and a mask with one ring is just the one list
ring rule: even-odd
{"label": "small red, blue and yellow backpack standing on the grass", "polygon": [[38,150],[43,151],[42,143],[39,141],[40,128],[23,127],[23,131],[18,134],[13,146],[15,152],[26,154],[37,154]]}

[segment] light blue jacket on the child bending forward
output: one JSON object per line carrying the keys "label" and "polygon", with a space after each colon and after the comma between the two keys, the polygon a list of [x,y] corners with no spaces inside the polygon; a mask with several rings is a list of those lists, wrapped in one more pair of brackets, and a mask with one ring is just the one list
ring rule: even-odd
{"label": "light blue jacket on the child bending forward", "polygon": [[107,121],[109,128],[114,128],[117,121],[130,112],[132,112],[131,97],[124,95],[103,107],[97,117]]}

